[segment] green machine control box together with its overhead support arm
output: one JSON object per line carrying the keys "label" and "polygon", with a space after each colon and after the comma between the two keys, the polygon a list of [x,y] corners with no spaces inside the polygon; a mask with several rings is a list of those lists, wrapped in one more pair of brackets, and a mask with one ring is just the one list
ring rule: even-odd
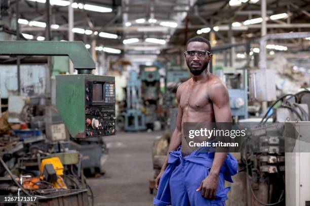
{"label": "green machine control box together with its overhead support arm", "polygon": [[68,56],[76,75],[56,76],[56,107],[73,138],[115,134],[114,77],[92,75],[95,63],[83,42],[0,41],[0,56]]}

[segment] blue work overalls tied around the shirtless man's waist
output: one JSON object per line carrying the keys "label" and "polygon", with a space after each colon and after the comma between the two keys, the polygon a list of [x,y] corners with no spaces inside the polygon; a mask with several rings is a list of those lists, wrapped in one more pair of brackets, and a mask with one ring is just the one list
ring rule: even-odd
{"label": "blue work overalls tied around the shirtless man's waist", "polygon": [[230,187],[224,186],[225,180],[232,182],[231,176],[238,173],[238,162],[230,153],[218,176],[215,200],[208,200],[196,191],[208,176],[214,159],[214,151],[209,147],[200,147],[186,157],[182,157],[181,147],[171,151],[168,166],[163,173],[154,205],[158,206],[202,206],[225,205]]}

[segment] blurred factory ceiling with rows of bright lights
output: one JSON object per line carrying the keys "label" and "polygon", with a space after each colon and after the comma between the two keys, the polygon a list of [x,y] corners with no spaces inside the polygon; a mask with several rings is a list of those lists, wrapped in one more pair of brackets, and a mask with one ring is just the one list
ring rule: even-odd
{"label": "blurred factory ceiling with rows of bright lights", "polygon": [[[19,1],[21,33],[33,39],[46,37],[47,27],[40,22],[48,22],[47,1]],[[70,2],[49,1],[52,39],[68,40]],[[10,3],[12,13],[16,2]],[[259,0],[73,0],[71,6],[74,40],[89,45],[96,40],[97,50],[117,48],[126,55],[157,55],[197,34],[209,38],[210,31],[218,43],[228,43],[231,37],[236,41],[259,37],[262,20]],[[310,0],[268,0],[266,14],[268,33],[310,29]]]}

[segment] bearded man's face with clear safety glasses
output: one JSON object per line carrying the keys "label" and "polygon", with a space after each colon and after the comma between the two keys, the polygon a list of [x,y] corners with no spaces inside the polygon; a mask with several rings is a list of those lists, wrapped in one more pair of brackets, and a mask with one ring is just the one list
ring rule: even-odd
{"label": "bearded man's face with clear safety glasses", "polygon": [[[208,44],[205,42],[192,41],[187,45],[187,51],[209,51]],[[200,75],[207,67],[208,63],[211,61],[212,55],[206,53],[205,56],[201,56],[196,53],[194,56],[190,56],[184,53],[187,67],[189,68],[190,73],[193,75]]]}

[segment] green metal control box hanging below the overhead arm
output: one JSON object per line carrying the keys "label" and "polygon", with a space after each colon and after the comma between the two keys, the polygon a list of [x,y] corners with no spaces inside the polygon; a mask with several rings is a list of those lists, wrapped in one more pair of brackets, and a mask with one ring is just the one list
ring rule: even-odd
{"label": "green metal control box hanging below the overhead arm", "polygon": [[115,134],[115,78],[57,75],[56,107],[73,138]]}

